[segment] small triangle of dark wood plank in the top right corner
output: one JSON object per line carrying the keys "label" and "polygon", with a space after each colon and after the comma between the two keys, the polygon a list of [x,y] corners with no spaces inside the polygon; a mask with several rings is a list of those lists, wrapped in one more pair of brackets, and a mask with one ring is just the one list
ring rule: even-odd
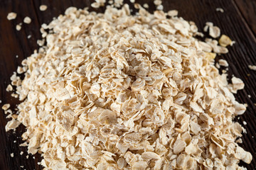
{"label": "small triangle of dark wood plank in the top right corner", "polygon": [[235,0],[235,4],[238,6],[243,18],[245,18],[245,22],[256,36],[256,1]]}

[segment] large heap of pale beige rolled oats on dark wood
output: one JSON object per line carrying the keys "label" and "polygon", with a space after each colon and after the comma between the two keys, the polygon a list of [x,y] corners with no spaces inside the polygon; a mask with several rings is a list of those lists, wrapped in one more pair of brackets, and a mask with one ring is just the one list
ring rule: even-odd
{"label": "large heap of pale beige rolled oats on dark wood", "polygon": [[23,61],[22,82],[12,77],[23,102],[6,130],[25,125],[47,169],[244,169],[252,155],[233,118],[246,108],[232,94],[244,84],[213,65],[228,50],[166,17],[68,8],[43,26],[46,46]]}

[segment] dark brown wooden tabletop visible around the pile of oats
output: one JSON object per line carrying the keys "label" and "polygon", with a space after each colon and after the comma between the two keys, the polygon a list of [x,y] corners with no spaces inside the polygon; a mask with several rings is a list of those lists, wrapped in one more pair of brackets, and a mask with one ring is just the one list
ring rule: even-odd
{"label": "dark brown wooden tabletop visible around the pile of oats", "polygon": [[[128,0],[127,0],[128,1]],[[125,1],[125,2],[127,2]],[[227,55],[221,55],[217,58],[224,58],[229,63],[229,78],[231,75],[241,78],[245,82],[245,89],[238,91],[235,95],[241,103],[247,103],[247,111],[240,119],[236,118],[239,123],[247,122],[245,133],[242,137],[243,143],[241,146],[252,153],[252,163],[242,164],[247,169],[255,169],[256,166],[256,72],[248,69],[248,64],[256,64],[256,40],[255,30],[255,14],[252,11],[245,13],[241,12],[247,9],[247,6],[253,6],[255,1],[247,0],[245,3],[240,3],[240,0],[168,0],[163,1],[164,11],[177,9],[178,16],[182,16],[188,21],[194,21],[199,30],[203,30],[203,26],[207,21],[211,21],[215,26],[219,26],[221,33],[229,35],[232,40],[235,40],[233,47],[228,47],[230,51]],[[19,103],[16,98],[11,98],[11,93],[5,91],[6,86],[10,84],[11,74],[16,71],[21,61],[31,55],[33,50],[37,49],[36,40],[41,38],[39,31],[42,23],[49,23],[53,17],[63,14],[65,8],[76,6],[78,8],[90,7],[92,0],[1,0],[0,1],[0,100],[3,103],[11,103],[11,108],[15,108]],[[150,11],[155,9],[153,1],[137,0],[140,4],[149,4]],[[252,4],[250,4],[252,2]],[[46,4],[48,9],[40,11],[39,6]],[[239,7],[237,6],[239,4]],[[215,8],[223,8],[224,13],[215,11]],[[255,8],[254,8],[255,9]],[[92,8],[90,8],[92,10]],[[18,14],[16,20],[8,21],[6,16],[9,12],[14,11]],[[98,12],[104,11],[104,8],[97,9]],[[25,16],[32,18],[31,24],[24,24],[20,31],[15,29],[16,24],[21,23]],[[28,35],[32,37],[27,38]],[[18,58],[16,58],[18,55]],[[250,74],[250,76],[248,76]],[[251,98],[248,97],[251,96]],[[3,104],[2,103],[2,104]],[[0,106],[2,106],[0,104]],[[7,123],[6,115],[0,111],[0,169],[17,170],[17,169],[42,169],[37,162],[41,159],[39,154],[36,154],[35,159],[29,156],[26,159],[26,148],[19,147],[23,141],[21,135],[24,132],[24,127],[17,128],[16,132],[5,132]],[[16,143],[14,143],[16,140]],[[19,153],[23,151],[24,154]],[[10,156],[14,153],[14,157]],[[23,166],[23,168],[21,168]]]}

